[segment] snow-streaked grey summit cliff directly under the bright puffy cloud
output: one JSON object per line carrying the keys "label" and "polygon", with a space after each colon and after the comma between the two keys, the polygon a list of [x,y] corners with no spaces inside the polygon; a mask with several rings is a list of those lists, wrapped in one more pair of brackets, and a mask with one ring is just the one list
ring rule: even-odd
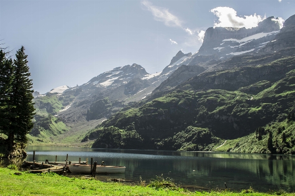
{"label": "snow-streaked grey summit cliff directly under the bright puffy cloud", "polygon": [[266,42],[272,41],[279,32],[274,17],[268,17],[256,28],[208,28],[198,55],[218,55],[219,58],[231,57],[259,50]]}

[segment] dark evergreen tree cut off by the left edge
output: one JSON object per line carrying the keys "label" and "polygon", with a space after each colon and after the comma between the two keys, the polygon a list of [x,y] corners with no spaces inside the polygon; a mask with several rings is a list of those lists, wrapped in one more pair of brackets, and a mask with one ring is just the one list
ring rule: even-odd
{"label": "dark evergreen tree cut off by the left edge", "polygon": [[12,59],[6,59],[5,55],[6,53],[0,50],[0,133],[8,135],[11,118],[14,117],[10,103],[13,62]]}

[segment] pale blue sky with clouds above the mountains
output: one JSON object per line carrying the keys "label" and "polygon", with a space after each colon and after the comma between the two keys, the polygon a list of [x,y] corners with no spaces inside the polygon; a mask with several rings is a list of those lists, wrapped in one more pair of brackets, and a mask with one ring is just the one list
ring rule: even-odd
{"label": "pale blue sky with clouds above the mountains", "polygon": [[127,64],[162,71],[179,50],[197,52],[207,28],[237,27],[228,15],[251,28],[294,14],[295,0],[0,0],[0,38],[13,54],[25,46],[45,93]]}

